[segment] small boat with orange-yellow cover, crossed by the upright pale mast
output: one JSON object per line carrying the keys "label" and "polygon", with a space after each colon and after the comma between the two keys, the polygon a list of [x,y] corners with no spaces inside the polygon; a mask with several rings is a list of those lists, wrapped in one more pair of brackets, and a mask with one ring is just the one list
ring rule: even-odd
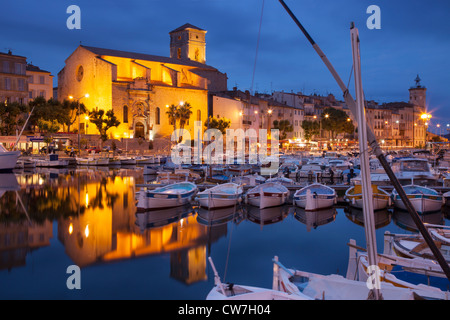
{"label": "small boat with orange-yellow cover, crossed by the upright pale mast", "polygon": [[[357,184],[348,188],[347,191],[345,191],[344,199],[350,206],[357,209],[363,209],[362,186]],[[374,210],[383,210],[391,205],[390,194],[375,184],[372,184],[372,199]]]}

